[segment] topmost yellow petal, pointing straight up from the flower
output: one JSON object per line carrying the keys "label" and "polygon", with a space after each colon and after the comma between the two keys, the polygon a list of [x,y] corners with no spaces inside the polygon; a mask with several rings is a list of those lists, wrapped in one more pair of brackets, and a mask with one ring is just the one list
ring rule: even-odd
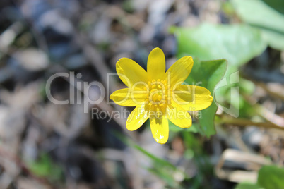
{"label": "topmost yellow petal, pointing straight up from the flower", "polygon": [[147,73],[149,80],[158,80],[165,75],[165,54],[158,47],[148,56]]}

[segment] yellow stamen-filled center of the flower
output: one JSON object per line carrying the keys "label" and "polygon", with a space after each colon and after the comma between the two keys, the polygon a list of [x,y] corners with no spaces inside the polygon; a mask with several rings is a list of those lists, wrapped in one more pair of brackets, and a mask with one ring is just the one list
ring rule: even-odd
{"label": "yellow stamen-filled center of the flower", "polygon": [[148,104],[150,106],[165,106],[167,104],[167,81],[152,80],[148,82]]}

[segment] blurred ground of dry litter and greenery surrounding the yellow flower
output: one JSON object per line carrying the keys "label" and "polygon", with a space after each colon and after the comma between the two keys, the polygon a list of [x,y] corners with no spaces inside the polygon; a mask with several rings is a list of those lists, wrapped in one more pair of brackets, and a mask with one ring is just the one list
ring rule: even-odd
{"label": "blurred ground of dry litter and greenery surrounding the yellow flower", "polygon": [[[0,188],[284,188],[283,2],[1,0]],[[154,47],[167,68],[184,54],[196,65],[227,59],[199,72],[214,75],[205,80],[212,94],[225,74],[219,109],[202,112],[206,121],[193,115],[189,129],[171,126],[165,145],[148,122],[129,132],[125,118],[92,116],[92,108],[131,111],[107,103],[107,93],[88,113],[78,103],[78,83],[123,88],[107,73],[122,57],[146,68]],[[47,98],[55,73],[76,75],[50,86],[57,100],[78,89],[75,102]],[[90,99],[102,93],[88,90]]]}

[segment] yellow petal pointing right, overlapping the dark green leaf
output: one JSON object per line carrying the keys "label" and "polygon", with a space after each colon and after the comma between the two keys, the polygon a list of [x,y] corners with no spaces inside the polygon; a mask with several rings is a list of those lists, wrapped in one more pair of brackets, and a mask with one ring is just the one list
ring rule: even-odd
{"label": "yellow petal pointing right, overlapping the dark green leaf", "polygon": [[206,109],[213,101],[211,92],[200,86],[179,85],[173,92],[172,100],[187,111]]}

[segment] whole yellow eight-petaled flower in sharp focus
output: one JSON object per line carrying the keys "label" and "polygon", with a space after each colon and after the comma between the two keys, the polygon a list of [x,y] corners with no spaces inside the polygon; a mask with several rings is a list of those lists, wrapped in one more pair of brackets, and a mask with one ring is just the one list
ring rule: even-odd
{"label": "whole yellow eight-petaled flower in sharp focus", "polygon": [[165,55],[159,48],[150,52],[147,71],[131,59],[119,59],[117,74],[128,88],[115,91],[110,99],[121,106],[136,106],[126,128],[136,130],[150,118],[153,138],[160,144],[169,137],[168,119],[189,128],[192,120],[187,111],[206,109],[213,100],[206,88],[182,84],[193,65],[191,56],[184,56],[165,72]]}

